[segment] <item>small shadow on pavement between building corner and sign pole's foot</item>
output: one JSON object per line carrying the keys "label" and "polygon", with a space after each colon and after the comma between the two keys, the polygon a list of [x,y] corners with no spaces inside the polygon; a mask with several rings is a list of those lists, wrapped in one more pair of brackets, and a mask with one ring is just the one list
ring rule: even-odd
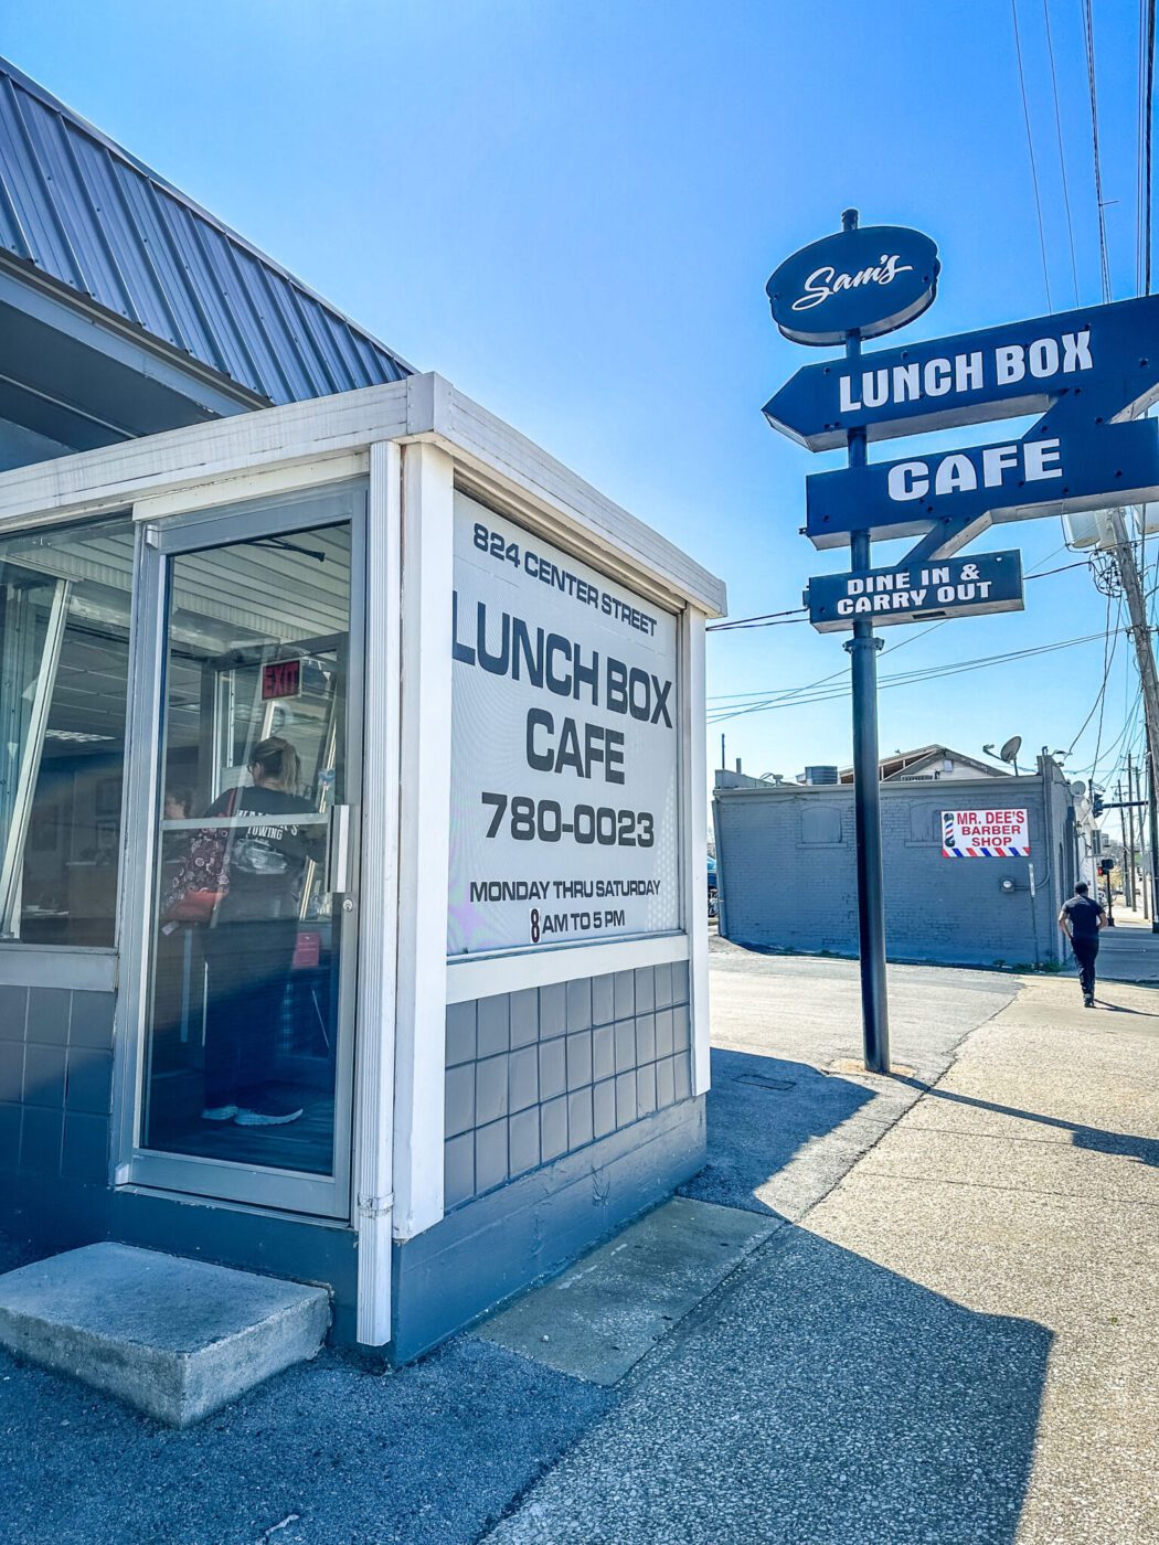
{"label": "small shadow on pavement between building corner and sign pole's foot", "polygon": [[681,1194],[780,1216],[756,1196],[757,1188],[875,1098],[864,1085],[808,1063],[712,1048],[708,1163]]}

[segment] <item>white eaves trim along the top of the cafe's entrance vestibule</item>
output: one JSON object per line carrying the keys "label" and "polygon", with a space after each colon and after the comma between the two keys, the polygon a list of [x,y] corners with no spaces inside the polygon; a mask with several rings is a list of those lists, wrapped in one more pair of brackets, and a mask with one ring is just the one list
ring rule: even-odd
{"label": "white eaves trim along the top of the cafe's entrance vestibule", "polygon": [[651,593],[723,615],[720,579],[433,372],[19,467],[0,474],[0,533],[145,501],[150,518],[229,502],[221,480],[236,488],[275,465],[283,479],[291,465],[306,482],[337,479],[369,445],[416,439],[448,451],[470,491],[499,499],[516,519],[525,511],[589,561],[603,552]]}

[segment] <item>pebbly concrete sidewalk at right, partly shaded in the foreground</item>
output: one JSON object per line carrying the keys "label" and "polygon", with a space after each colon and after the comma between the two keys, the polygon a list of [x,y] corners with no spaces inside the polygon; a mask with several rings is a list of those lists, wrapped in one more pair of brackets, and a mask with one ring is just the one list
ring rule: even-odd
{"label": "pebbly concrete sidewalk at right, partly shaded in the foreground", "polygon": [[1159,1537],[1159,1000],[1028,980],[491,1539]]}

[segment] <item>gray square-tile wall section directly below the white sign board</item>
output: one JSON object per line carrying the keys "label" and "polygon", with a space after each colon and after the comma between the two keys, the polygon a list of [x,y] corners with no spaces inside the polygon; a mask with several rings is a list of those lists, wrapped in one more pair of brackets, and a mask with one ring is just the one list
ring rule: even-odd
{"label": "gray square-tile wall section directly below the white sign board", "polygon": [[692,1095],[688,964],[447,1009],[447,1210]]}

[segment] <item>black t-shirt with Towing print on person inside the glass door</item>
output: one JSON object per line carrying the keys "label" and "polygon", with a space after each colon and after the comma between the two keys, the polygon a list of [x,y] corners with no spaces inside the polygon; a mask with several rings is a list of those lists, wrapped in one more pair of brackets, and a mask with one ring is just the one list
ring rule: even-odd
{"label": "black t-shirt with Towing print on person inside the glass door", "polygon": [[[306,816],[314,805],[298,794],[255,783],[229,789],[213,800],[209,816]],[[218,919],[292,918],[298,912],[301,876],[308,859],[326,851],[321,827],[233,827],[229,833],[229,893]]]}

